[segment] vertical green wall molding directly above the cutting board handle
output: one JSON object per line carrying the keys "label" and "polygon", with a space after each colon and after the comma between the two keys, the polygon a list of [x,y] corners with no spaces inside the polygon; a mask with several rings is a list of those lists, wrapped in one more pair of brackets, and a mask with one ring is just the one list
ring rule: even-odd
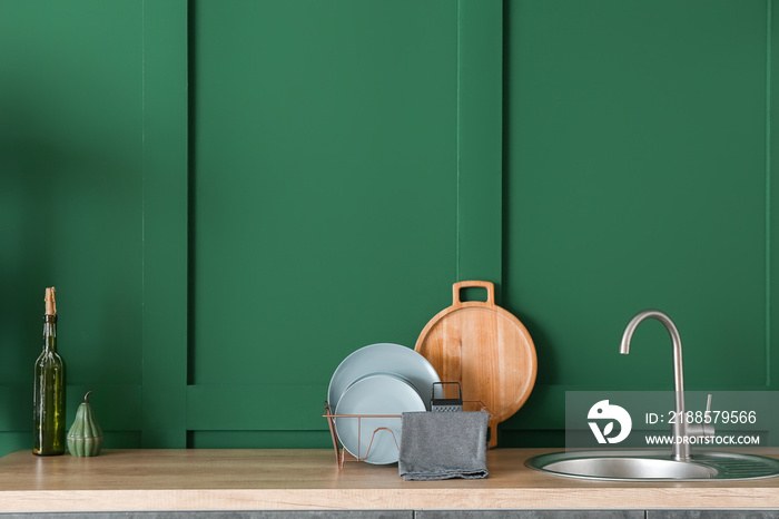
{"label": "vertical green wall molding directly above the cutting board handle", "polygon": [[457,281],[502,280],[503,1],[457,2]]}

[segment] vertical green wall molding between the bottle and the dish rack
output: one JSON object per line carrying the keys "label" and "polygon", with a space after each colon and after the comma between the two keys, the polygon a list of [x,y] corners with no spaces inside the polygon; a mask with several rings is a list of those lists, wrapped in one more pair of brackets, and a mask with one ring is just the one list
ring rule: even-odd
{"label": "vertical green wall molding between the bottle and the dish rack", "polygon": [[187,1],[144,1],[144,447],[186,445]]}

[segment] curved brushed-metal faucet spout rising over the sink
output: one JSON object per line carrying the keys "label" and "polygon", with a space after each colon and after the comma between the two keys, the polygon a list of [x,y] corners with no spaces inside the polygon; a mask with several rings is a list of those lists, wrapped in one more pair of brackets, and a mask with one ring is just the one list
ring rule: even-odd
{"label": "curved brushed-metal faucet spout rising over the sink", "polygon": [[677,417],[673,421],[674,438],[671,453],[673,454],[673,459],[687,461],[690,459],[690,444],[684,441],[687,439],[687,428],[684,427],[684,369],[682,366],[681,336],[679,335],[677,325],[673,324],[671,317],[658,310],[640,312],[630,320],[628,326],[624,329],[622,341],[620,342],[620,353],[623,355],[630,353],[630,340],[633,337],[633,332],[635,332],[635,329],[641,322],[648,319],[655,319],[663,323],[665,330],[668,330],[668,333],[671,335],[671,342],[673,344],[673,386],[676,390],[677,404]]}

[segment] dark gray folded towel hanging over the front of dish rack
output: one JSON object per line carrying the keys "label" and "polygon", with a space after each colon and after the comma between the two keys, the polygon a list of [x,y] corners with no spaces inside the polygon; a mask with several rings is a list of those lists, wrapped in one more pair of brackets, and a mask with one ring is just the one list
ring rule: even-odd
{"label": "dark gray folded towel hanging over the front of dish rack", "polygon": [[397,461],[401,478],[486,478],[489,418],[484,411],[403,413]]}

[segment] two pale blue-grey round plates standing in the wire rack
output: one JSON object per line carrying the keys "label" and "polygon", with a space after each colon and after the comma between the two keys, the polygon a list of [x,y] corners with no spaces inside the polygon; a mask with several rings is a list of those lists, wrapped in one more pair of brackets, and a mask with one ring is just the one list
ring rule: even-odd
{"label": "two pale blue-grey round plates standing in the wire rack", "polygon": [[338,415],[341,443],[368,463],[396,462],[400,414],[430,411],[435,382],[441,379],[431,363],[400,344],[372,344],[352,353],[335,370],[327,390],[331,410]]}

